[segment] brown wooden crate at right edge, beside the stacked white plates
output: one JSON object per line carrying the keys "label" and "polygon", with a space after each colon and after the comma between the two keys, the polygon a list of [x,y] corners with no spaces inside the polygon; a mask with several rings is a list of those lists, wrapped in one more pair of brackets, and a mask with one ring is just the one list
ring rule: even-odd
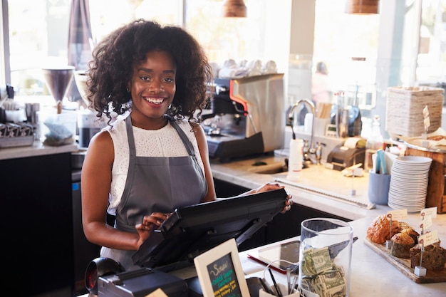
{"label": "brown wooden crate at right edge, beside the stacked white plates", "polygon": [[432,164],[429,170],[429,182],[427,184],[426,207],[437,207],[437,213],[446,212],[446,194],[445,194],[445,152],[429,152],[427,150],[418,150],[407,147],[406,156],[430,157]]}

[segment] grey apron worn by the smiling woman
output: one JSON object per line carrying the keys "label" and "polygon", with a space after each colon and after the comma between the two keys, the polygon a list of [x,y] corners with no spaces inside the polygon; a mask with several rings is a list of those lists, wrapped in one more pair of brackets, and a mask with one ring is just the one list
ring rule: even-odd
{"label": "grey apron worn by the smiling woman", "polygon": [[[207,182],[195,157],[192,142],[175,120],[175,127],[186,147],[185,157],[137,157],[130,115],[125,118],[130,149],[128,176],[123,197],[116,209],[115,228],[136,233],[135,225],[152,212],[170,213],[178,207],[202,202]],[[147,240],[150,240],[151,237]],[[101,256],[120,262],[126,270],[138,269],[132,261],[135,251],[103,247]]]}

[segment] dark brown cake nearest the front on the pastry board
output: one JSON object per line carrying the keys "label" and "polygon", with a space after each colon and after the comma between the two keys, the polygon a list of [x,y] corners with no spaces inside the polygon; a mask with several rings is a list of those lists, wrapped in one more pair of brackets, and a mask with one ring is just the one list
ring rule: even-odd
{"label": "dark brown cake nearest the front on the pastry board", "polygon": [[[410,249],[410,267],[420,265],[421,246],[414,246]],[[446,263],[446,249],[441,246],[430,245],[425,247],[422,254],[422,266],[427,270],[442,270]]]}

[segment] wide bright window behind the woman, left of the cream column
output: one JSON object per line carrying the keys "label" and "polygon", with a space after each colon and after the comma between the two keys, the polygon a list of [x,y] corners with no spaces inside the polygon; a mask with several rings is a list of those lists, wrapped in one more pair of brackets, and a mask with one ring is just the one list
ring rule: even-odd
{"label": "wide bright window behind the woman, left of the cream column", "polygon": [[[9,5],[11,84],[17,95],[47,94],[40,68],[48,64],[67,64],[71,1],[2,1]],[[185,20],[183,2],[186,4]],[[113,5],[108,0],[90,0],[93,40],[100,40],[132,19],[152,19],[179,26],[185,22],[187,30],[207,51],[210,61],[222,63],[227,58],[274,60],[284,71],[288,63],[289,31],[276,30],[268,26],[268,22],[289,27],[286,25],[289,19],[281,16],[291,0],[283,0],[283,6],[269,0],[245,0],[245,3],[247,18],[224,19],[221,17],[222,0],[115,0]],[[33,26],[24,19],[33,19]]]}

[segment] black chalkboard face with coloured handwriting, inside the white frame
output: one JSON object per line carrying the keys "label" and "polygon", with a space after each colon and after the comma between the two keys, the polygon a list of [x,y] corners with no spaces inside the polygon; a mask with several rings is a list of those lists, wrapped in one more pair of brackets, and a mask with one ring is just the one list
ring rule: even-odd
{"label": "black chalkboard face with coloured handwriting, inside the white frame", "polygon": [[214,261],[207,266],[215,297],[241,297],[242,292],[234,271],[230,254]]}

